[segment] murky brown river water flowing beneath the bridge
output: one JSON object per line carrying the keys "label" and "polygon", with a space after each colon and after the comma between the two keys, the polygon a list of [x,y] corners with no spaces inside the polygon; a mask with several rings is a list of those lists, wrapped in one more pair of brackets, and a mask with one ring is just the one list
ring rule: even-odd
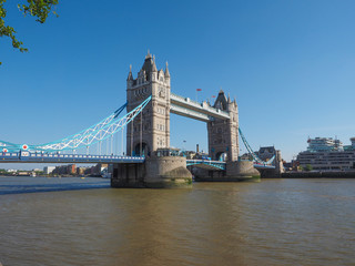
{"label": "murky brown river water flowing beneath the bridge", "polygon": [[355,265],[355,180],[110,188],[0,177],[0,262],[21,265]]}

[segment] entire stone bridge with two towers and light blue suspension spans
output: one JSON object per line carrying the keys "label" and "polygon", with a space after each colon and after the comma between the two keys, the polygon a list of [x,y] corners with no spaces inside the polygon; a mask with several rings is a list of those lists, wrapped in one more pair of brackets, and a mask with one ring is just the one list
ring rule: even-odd
{"label": "entire stone bridge with two towers and light blue suspension spans", "polygon": [[[126,114],[120,117],[124,109]],[[170,113],[206,123],[209,160],[159,155],[162,154],[159,151],[169,153]],[[126,151],[125,155],[118,156],[112,153],[113,135],[124,130]],[[252,161],[239,160],[240,135]],[[109,144],[110,141],[111,154],[102,155],[102,142]],[[98,145],[100,155],[90,154],[92,145]],[[155,58],[150,53],[135,79],[130,66],[126,103],[106,119],[78,134],[51,143],[26,145],[0,141],[0,162],[112,163],[111,185],[114,187],[185,186],[191,184],[191,172],[201,181],[239,181],[260,176],[255,168],[275,174],[282,171],[281,154],[274,152],[267,155],[267,160],[262,160],[248,145],[239,126],[235,99],[232,101],[221,90],[211,105],[172,93],[168,63],[165,70],[158,70]],[[87,150],[87,154],[78,154],[80,149]],[[64,151],[72,152],[61,154]]]}

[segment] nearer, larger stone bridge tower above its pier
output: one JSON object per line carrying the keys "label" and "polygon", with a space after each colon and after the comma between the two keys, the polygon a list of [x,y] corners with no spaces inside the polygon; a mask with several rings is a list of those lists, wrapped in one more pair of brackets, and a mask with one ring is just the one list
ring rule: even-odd
{"label": "nearer, larger stone bridge tower above its pier", "polygon": [[[170,146],[170,73],[168,69],[158,71],[155,57],[145,55],[142,69],[136,79],[132,68],[126,79],[126,111],[130,112],[152,95],[151,102],[128,125],[126,154],[150,155],[160,147]],[[142,140],[142,144],[141,144]]]}

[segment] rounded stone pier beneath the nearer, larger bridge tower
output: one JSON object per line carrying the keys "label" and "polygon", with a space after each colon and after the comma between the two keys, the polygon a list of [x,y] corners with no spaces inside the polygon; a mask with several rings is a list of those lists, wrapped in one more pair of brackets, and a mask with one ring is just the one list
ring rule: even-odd
{"label": "rounded stone pier beneath the nearer, larger bridge tower", "polygon": [[112,187],[173,188],[191,187],[192,175],[186,160],[175,156],[152,156],[142,164],[114,164]]}

